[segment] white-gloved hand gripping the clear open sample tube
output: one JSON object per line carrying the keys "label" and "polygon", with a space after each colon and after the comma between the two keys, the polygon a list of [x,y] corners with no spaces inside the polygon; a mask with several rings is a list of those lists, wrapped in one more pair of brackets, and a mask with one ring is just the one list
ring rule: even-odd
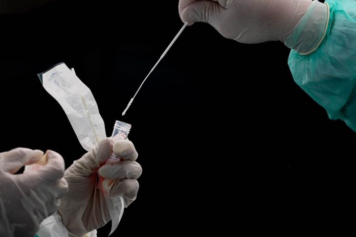
{"label": "white-gloved hand gripping the clear open sample tube", "polygon": [[[113,150],[124,160],[104,164]],[[69,193],[61,199],[58,210],[70,236],[82,236],[110,221],[103,191],[97,188],[98,170],[103,178],[114,180],[109,182],[110,185],[104,180],[103,186],[110,194],[123,195],[125,206],[136,199],[139,189],[137,179],[142,173],[140,164],[135,162],[137,156],[131,141],[116,140],[114,143],[112,138],[106,138],[65,171]]]}

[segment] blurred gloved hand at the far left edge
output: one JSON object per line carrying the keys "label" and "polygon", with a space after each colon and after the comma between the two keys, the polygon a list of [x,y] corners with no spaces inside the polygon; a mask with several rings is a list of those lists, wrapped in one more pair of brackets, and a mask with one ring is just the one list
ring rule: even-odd
{"label": "blurred gloved hand at the far left edge", "polygon": [[26,148],[0,153],[0,236],[34,236],[68,192],[63,158],[54,151],[47,151],[48,163],[39,170],[14,175],[42,155]]}

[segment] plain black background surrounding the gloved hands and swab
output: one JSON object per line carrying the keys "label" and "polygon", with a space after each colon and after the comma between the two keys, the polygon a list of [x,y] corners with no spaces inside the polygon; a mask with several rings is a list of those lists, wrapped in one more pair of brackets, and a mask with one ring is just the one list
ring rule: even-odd
{"label": "plain black background surrounding the gloved hands and swab", "polygon": [[36,76],[65,62],[107,135],[115,120],[132,125],[143,174],[114,236],[280,230],[347,205],[356,134],[294,83],[281,42],[240,44],[195,23],[121,116],[183,26],[177,3],[59,1],[0,16],[0,151],[52,149],[66,167],[84,154]]}

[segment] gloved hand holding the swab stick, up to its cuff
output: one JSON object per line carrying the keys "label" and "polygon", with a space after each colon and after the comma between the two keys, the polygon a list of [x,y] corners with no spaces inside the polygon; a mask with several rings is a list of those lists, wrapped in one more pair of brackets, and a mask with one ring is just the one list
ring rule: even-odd
{"label": "gloved hand holding the swab stick, up to its cuff", "polygon": [[311,0],[180,0],[183,22],[207,22],[222,36],[241,43],[283,41]]}

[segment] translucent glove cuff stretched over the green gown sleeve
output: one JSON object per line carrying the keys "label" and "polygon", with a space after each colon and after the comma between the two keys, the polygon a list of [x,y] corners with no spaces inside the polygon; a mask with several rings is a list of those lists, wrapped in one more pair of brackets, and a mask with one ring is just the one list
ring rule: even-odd
{"label": "translucent glove cuff stretched over the green gown sleeve", "polygon": [[286,37],[284,44],[301,55],[313,53],[325,37],[328,21],[328,5],[313,1],[304,16]]}

